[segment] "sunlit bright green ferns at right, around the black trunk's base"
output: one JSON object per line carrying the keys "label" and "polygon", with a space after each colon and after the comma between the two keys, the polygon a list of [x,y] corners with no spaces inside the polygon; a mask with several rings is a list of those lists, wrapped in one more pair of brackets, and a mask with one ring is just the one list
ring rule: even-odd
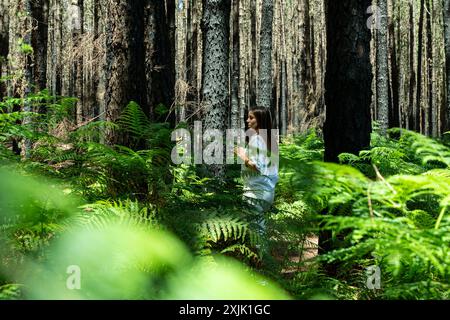
{"label": "sunlit bright green ferns at right, around the black trunk's base", "polygon": [[[449,149],[417,133],[391,133],[395,139],[374,136],[373,148],[359,156],[340,156],[364,174],[343,165],[286,160],[285,170],[296,172],[282,184],[314,211],[327,213],[317,215],[309,231],[320,226],[332,233],[336,249],[318,261],[338,264],[333,280],[343,285],[338,296],[351,288],[347,298],[446,299]],[[381,290],[366,287],[369,266],[380,267]],[[332,283],[315,277],[324,279],[325,287]]]}

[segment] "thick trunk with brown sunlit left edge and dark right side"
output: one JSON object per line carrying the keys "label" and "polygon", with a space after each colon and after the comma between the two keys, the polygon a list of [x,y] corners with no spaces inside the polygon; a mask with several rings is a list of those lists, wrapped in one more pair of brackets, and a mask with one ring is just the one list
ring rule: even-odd
{"label": "thick trunk with brown sunlit left edge and dark right side", "polygon": [[[106,120],[116,121],[130,101],[146,105],[144,1],[109,0],[106,30]],[[144,108],[145,109],[145,108]],[[110,144],[126,143],[110,131]]]}

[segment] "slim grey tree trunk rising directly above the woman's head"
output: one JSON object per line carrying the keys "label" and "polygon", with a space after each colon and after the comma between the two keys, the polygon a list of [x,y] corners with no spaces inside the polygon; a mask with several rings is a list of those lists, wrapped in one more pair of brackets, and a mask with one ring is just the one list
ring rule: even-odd
{"label": "slim grey tree trunk rising directly above the woman's head", "polygon": [[273,0],[263,0],[256,104],[266,109],[271,109],[272,106],[272,23]]}

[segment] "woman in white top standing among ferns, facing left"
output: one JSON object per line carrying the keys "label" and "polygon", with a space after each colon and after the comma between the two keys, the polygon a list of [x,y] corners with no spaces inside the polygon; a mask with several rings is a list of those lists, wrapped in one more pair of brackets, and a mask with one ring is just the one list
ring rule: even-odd
{"label": "woman in white top standing among ferns, facing left", "polygon": [[272,117],[265,108],[250,110],[247,124],[247,148],[238,148],[236,154],[244,161],[244,200],[258,212],[259,225],[264,233],[264,213],[273,204],[278,182],[278,137],[273,135]]}

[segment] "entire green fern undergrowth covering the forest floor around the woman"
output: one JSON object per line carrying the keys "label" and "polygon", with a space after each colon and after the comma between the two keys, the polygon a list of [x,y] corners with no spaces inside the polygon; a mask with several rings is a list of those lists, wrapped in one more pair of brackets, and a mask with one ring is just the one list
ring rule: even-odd
{"label": "entire green fern undergrowth covering the forest floor around the woman", "polygon": [[[322,162],[314,131],[286,138],[262,234],[239,168],[218,184],[174,166],[167,123],[130,102],[117,123],[75,124],[76,101],[44,90],[0,102],[0,299],[288,298],[254,268],[299,299],[448,299],[448,134],[374,133],[341,164]],[[126,145],[103,144],[110,132]],[[27,160],[12,150],[24,138]],[[334,249],[317,256],[324,231]],[[65,289],[71,265],[81,291]],[[366,286],[370,266],[380,290]]]}

